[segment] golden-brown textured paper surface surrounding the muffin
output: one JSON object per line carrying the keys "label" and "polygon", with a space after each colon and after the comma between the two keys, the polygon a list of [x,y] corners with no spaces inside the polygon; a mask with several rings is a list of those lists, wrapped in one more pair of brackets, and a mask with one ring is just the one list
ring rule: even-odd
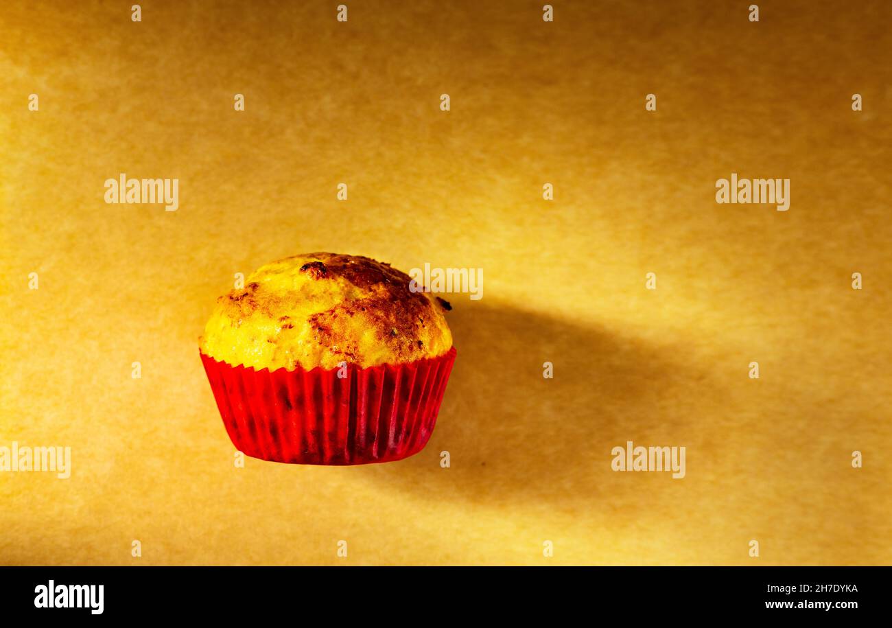
{"label": "golden-brown textured paper surface surrounding the muffin", "polygon": [[[130,4],[0,9],[0,445],[72,458],[0,474],[0,563],[892,561],[890,4]],[[121,172],[178,211],[103,202]],[[731,172],[789,211],[716,204]],[[236,468],[197,336],[319,250],[483,268],[438,426]],[[687,476],[613,472],[628,440]]]}

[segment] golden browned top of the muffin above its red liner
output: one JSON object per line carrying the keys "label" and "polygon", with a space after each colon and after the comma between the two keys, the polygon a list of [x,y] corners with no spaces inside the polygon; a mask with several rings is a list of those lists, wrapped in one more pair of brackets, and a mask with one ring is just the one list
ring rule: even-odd
{"label": "golden browned top of the muffin above its red liner", "polygon": [[409,276],[359,255],[308,253],[255,270],[230,291],[200,339],[233,366],[359,368],[435,358],[450,350],[449,303],[409,290]]}

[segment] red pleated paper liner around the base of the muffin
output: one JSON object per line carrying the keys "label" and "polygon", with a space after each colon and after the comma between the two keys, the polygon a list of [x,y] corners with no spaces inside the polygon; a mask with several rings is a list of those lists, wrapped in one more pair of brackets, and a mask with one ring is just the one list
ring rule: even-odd
{"label": "red pleated paper liner around the base of the muffin", "polygon": [[408,458],[434,431],[456,350],[380,367],[234,367],[201,351],[235,449],[298,465],[365,465]]}

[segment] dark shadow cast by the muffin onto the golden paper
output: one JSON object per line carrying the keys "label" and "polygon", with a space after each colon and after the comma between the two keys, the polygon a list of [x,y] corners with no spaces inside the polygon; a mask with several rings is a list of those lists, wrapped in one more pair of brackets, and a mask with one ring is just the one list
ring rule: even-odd
{"label": "dark shadow cast by the muffin onto the golden paper", "polygon": [[[635,487],[610,467],[612,448],[627,441],[690,446],[702,438],[698,408],[720,402],[706,374],[684,361],[683,347],[450,301],[462,359],[434,434],[415,457],[369,469],[376,482],[489,505],[518,498],[634,503]],[[551,378],[543,376],[546,362]]]}

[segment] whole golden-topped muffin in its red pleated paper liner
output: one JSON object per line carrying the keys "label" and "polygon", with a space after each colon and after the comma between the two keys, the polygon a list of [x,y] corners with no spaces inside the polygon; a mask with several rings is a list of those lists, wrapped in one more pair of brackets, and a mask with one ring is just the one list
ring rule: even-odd
{"label": "whole golden-topped muffin in its red pleated paper liner", "polygon": [[309,253],[220,297],[199,340],[227,434],[253,458],[407,458],[434,430],[456,350],[449,303],[389,264]]}

